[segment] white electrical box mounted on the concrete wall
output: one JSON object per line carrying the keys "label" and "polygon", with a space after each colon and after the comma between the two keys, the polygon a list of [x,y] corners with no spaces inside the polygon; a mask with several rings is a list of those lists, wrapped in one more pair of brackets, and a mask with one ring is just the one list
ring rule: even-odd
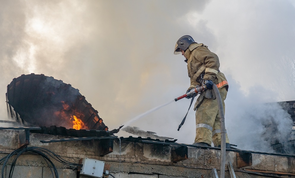
{"label": "white electrical box mounted on the concrete wall", "polygon": [[82,159],[81,175],[87,175],[91,177],[102,177],[104,173],[104,161],[89,159],[87,157]]}

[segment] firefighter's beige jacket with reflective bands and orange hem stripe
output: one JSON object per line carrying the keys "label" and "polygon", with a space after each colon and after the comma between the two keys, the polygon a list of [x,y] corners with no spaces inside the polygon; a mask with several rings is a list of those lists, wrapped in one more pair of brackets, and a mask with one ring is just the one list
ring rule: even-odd
{"label": "firefighter's beige jacket with reflective bands and orange hem stripe", "polygon": [[228,82],[224,74],[218,72],[220,66],[218,56],[207,47],[202,43],[193,43],[185,51],[185,56],[188,59],[188,76],[191,78],[189,89],[193,89],[196,85],[202,85],[198,81],[202,73],[205,74],[204,79],[212,80],[218,88],[227,86],[228,89]]}

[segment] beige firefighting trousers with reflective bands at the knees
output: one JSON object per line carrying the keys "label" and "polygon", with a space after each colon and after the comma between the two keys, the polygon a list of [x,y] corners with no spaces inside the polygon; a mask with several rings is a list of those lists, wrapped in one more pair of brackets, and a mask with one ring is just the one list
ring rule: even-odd
{"label": "beige firefighting trousers with reflective bands at the knees", "polygon": [[[225,103],[227,90],[226,87],[222,87],[219,90],[223,111],[225,111]],[[202,97],[200,95],[199,97]],[[199,98],[198,98],[199,100]],[[198,102],[198,101],[197,101]],[[203,98],[200,100],[201,104],[196,109],[196,138],[195,143],[205,142],[207,144],[212,143],[215,147],[221,145],[221,134],[220,134],[220,121],[218,113],[217,100]],[[226,143],[229,143],[229,138],[226,134]]]}

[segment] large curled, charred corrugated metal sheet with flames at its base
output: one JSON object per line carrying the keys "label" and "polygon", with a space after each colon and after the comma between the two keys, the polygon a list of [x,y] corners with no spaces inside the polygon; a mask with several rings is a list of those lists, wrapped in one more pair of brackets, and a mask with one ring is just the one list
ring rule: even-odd
{"label": "large curled, charred corrugated metal sheet with flames at its base", "polygon": [[[44,74],[21,75],[7,85],[7,101],[21,119],[36,125],[73,128],[69,115],[84,123],[82,129],[108,130],[78,89]],[[85,127],[85,128],[84,128]]]}

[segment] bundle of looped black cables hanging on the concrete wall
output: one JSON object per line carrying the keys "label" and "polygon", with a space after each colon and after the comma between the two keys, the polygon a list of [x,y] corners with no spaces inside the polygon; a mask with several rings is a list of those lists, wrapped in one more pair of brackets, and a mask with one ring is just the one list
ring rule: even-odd
{"label": "bundle of looped black cables hanging on the concrete wall", "polygon": [[10,167],[10,171],[9,171],[9,177],[8,178],[12,178],[12,174],[13,174],[13,170],[15,167],[15,163],[16,160],[18,159],[18,157],[25,153],[25,152],[31,152],[31,153],[36,153],[38,155],[41,155],[44,160],[46,161],[46,163],[48,164],[50,171],[52,173],[53,178],[58,178],[58,173],[57,173],[57,169],[55,167],[55,165],[53,164],[53,162],[50,160],[50,157],[57,160],[58,162],[69,166],[71,168],[74,169],[79,169],[82,167],[82,164],[76,164],[76,163],[71,163],[69,161],[64,160],[63,158],[61,158],[59,155],[56,155],[55,153],[53,153],[52,151],[45,149],[45,148],[40,148],[40,147],[26,147],[26,148],[22,148],[22,149],[16,149],[15,151],[13,151],[12,153],[10,153],[9,155],[3,157],[0,160],[0,164],[3,163],[3,167],[2,167],[2,178],[4,178],[4,168],[8,162],[8,160],[16,155],[11,163],[11,167]]}

